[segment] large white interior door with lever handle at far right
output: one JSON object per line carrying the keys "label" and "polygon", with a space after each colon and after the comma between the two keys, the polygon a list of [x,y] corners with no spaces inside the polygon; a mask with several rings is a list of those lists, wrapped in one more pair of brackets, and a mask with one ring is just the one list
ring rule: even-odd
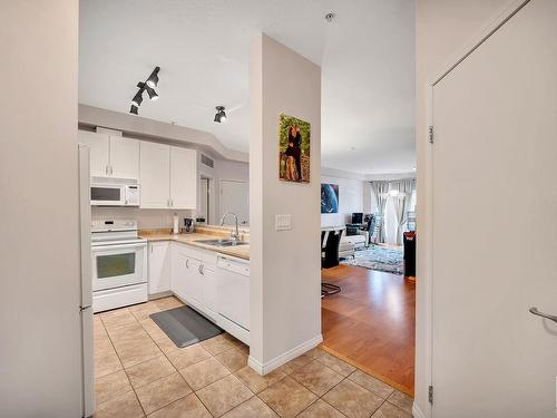
{"label": "large white interior door with lever handle at far right", "polygon": [[433,87],[432,411],[555,417],[557,1]]}

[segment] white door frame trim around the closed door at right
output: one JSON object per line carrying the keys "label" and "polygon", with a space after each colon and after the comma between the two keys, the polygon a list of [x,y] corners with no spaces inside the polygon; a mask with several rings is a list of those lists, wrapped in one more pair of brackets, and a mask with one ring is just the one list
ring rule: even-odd
{"label": "white door frame trim around the closed door at right", "polygon": [[[430,138],[430,127],[433,126],[433,88],[436,85],[441,81],[447,75],[449,75],[455,68],[457,68],[460,62],[462,62],[468,56],[473,54],[473,51],[481,46],[487,39],[491,37],[499,28],[501,28],[508,20],[510,20],[516,13],[518,13],[526,4],[530,1],[535,0],[515,0],[510,4],[507,4],[502,9],[500,9],[495,17],[489,19],[482,28],[476,32],[461,48],[457,50],[450,58],[444,62],[443,66],[436,71],[432,77],[429,78],[426,85],[426,133],[424,138],[429,142]],[[434,135],[434,132],[433,132]],[[433,139],[434,142],[434,139]],[[424,193],[427,202],[427,207],[420,210],[417,207],[418,220],[417,220],[417,230],[424,230],[424,234],[418,240],[418,252],[422,252],[424,254],[424,264],[419,265],[418,263],[418,275],[419,281],[422,282],[422,292],[423,292],[423,305],[420,307],[417,303],[417,321],[420,318],[423,318],[423,333],[421,336],[417,336],[417,346],[418,340],[424,341],[424,361],[423,366],[424,370],[424,379],[426,381],[418,381],[414,375],[414,388],[416,393],[424,391],[426,397],[428,393],[428,387],[432,385],[432,366],[433,366],[433,275],[432,275],[432,265],[433,265],[433,144],[427,144],[427,152],[424,153],[424,171],[423,171],[423,186],[419,187],[418,193]],[[418,183],[417,183],[418,184]],[[421,225],[426,225],[423,229]],[[418,327],[417,327],[418,329]],[[418,360],[418,359],[417,359]],[[418,361],[416,361],[418,364]],[[420,390],[419,388],[422,388]],[[412,406],[412,414],[417,418],[432,418],[432,405],[428,402],[428,399],[424,400],[426,409],[422,410],[420,406],[417,404],[416,398]]]}

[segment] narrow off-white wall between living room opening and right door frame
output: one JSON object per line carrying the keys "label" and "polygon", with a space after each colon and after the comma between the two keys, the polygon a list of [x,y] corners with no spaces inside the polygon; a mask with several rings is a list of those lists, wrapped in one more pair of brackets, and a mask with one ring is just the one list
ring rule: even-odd
{"label": "narrow off-white wall between living room opening and right door frame", "polygon": [[[430,414],[427,400],[429,381],[429,347],[426,321],[428,313],[428,262],[429,213],[431,198],[427,187],[428,172],[428,121],[427,121],[427,81],[444,62],[465,46],[495,16],[507,8],[514,0],[417,0],[416,4],[416,69],[417,69],[417,187],[418,187],[418,280],[416,318],[416,406],[426,416]],[[461,364],[466,368],[466,363]],[[463,369],[462,369],[463,370]],[[455,372],[458,371],[456,364]]]}

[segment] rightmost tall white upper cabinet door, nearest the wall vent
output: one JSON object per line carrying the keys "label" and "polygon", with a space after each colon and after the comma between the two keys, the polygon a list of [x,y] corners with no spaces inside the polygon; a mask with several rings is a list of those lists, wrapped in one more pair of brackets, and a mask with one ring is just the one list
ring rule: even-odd
{"label": "rightmost tall white upper cabinet door, nearest the wall vent", "polygon": [[170,206],[195,210],[197,205],[197,153],[170,147]]}

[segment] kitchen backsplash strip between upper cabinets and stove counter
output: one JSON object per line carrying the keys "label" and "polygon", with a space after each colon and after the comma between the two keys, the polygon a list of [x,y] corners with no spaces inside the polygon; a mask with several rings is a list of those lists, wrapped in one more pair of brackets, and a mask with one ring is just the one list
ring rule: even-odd
{"label": "kitchen backsplash strip between upper cabinets and stove counter", "polygon": [[91,207],[92,220],[137,220],[140,230],[173,226],[173,216],[178,214],[179,226],[184,226],[184,217],[195,217],[194,211],[147,210],[139,207]]}

